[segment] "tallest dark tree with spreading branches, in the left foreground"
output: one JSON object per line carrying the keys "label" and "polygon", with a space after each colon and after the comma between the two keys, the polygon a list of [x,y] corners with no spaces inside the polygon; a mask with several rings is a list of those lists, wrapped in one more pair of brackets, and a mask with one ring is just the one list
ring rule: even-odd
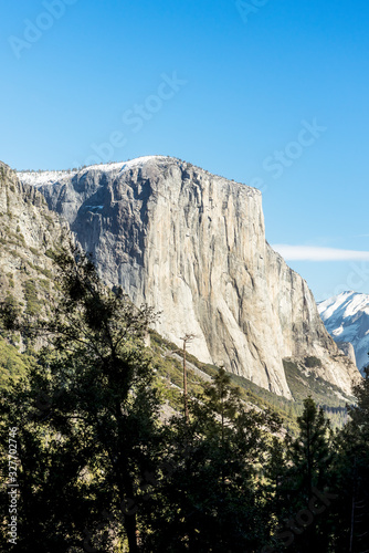
{"label": "tallest dark tree with spreading branches, in the left foreground", "polygon": [[84,254],[61,255],[57,264],[52,319],[4,311],[7,327],[51,340],[21,392],[0,405],[24,448],[19,551],[117,551],[126,539],[138,552],[141,482],[155,471],[159,444],[159,399],[144,344],[152,313],[104,286]]}

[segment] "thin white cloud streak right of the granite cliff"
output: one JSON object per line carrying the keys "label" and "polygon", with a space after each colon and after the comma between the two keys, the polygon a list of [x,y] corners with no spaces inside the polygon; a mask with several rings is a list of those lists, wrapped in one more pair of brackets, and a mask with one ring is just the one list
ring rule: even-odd
{"label": "thin white cloud streak right of the granite cliff", "polygon": [[369,261],[369,251],[338,250],[318,246],[273,244],[286,261]]}

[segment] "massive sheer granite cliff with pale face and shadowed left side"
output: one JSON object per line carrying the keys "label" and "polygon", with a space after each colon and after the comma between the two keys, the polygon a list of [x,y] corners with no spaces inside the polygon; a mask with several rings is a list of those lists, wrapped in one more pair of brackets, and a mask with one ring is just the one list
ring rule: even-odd
{"label": "massive sheer granite cliff with pale face and shadowed left side", "polygon": [[355,366],[265,241],[259,190],[168,157],[91,167],[40,190],[106,282],[161,311],[165,337],[193,333],[201,361],[286,397],[285,357],[319,357],[320,376],[350,390]]}

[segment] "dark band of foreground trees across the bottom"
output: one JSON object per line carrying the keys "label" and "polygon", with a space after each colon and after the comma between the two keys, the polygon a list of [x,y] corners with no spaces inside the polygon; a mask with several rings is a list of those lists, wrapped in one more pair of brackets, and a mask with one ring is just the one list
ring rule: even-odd
{"label": "dark band of foreground trees across the bottom", "polygon": [[152,311],[107,289],[81,252],[55,263],[48,314],[1,305],[1,334],[28,348],[11,349],[1,383],[3,550],[368,550],[368,378],[340,430],[307,397],[289,432],[222,368],[189,394],[188,417],[182,395],[164,415]]}

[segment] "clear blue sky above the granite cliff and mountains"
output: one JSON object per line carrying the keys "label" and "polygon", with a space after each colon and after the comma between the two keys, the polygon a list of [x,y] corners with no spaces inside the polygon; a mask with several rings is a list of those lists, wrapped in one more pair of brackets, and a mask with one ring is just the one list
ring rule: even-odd
{"label": "clear blue sky above the granite cliff and mountains", "polygon": [[263,190],[317,300],[369,293],[368,29],[363,0],[8,2],[0,158],[186,159]]}

